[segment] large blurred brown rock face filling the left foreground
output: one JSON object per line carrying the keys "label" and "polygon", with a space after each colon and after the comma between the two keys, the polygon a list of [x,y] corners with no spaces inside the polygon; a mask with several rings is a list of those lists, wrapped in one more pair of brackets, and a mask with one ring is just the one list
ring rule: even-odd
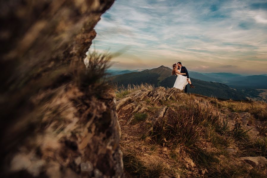
{"label": "large blurred brown rock face filling the left foreground", "polygon": [[124,176],[106,64],[83,65],[113,2],[1,2],[1,177]]}

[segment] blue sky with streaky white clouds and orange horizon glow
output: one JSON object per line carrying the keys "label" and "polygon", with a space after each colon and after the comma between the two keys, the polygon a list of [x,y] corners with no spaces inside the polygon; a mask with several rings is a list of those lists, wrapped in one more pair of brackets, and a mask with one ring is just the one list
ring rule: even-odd
{"label": "blue sky with streaky white clouds and orange horizon glow", "polygon": [[111,69],[267,73],[267,0],[117,0],[95,26],[98,52],[122,52]]}

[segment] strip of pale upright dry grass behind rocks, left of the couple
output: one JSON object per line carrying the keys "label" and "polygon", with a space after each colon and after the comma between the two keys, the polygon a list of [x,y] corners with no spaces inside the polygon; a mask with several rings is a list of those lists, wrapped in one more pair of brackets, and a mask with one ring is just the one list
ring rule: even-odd
{"label": "strip of pale upright dry grass behind rocks, left of the couple", "polygon": [[115,85],[115,93],[116,93],[116,98],[124,98],[124,96],[137,91],[137,90],[142,90],[142,89],[148,89],[150,91],[152,91],[154,89],[154,85],[150,85],[150,84],[143,84],[141,83],[140,85],[128,85],[127,87],[125,87],[124,85],[121,86],[117,86]]}

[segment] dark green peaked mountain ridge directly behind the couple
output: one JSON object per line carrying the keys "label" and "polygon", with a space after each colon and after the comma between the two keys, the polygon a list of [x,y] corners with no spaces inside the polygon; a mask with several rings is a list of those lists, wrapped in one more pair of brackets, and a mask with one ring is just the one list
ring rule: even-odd
{"label": "dark green peaked mountain ridge directly behind the couple", "polygon": [[[172,69],[160,66],[151,70],[143,70],[140,72],[131,72],[110,77],[110,80],[117,85],[127,86],[128,84],[150,83],[157,86],[173,87],[176,77],[171,75]],[[189,72],[190,76],[191,72]],[[216,96],[218,98],[231,98],[235,100],[246,99],[244,93],[239,90],[232,89],[225,84],[217,82],[207,82],[191,78],[195,89],[189,88],[188,92],[197,93],[205,96]]]}

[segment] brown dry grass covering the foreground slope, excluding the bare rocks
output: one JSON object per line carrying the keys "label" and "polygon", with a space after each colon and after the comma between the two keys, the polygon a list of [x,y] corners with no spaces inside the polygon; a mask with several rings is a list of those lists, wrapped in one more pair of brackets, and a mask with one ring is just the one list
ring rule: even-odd
{"label": "brown dry grass covering the foreground slope, excluding the bare rocks", "polygon": [[[133,108],[118,111],[127,177],[266,177],[265,168],[251,168],[238,157],[266,157],[267,139],[255,142],[242,130],[236,132],[219,124],[217,111],[228,108],[229,111],[250,112],[249,122],[255,122],[259,113],[261,120],[267,120],[267,104],[185,94],[182,101],[157,104],[148,98],[144,101],[148,110],[136,115],[131,125],[123,120],[129,118]],[[168,107],[164,119],[147,135],[151,120],[162,106]],[[267,132],[266,128],[265,125],[263,133]],[[233,148],[237,153],[229,154],[225,148]]]}

